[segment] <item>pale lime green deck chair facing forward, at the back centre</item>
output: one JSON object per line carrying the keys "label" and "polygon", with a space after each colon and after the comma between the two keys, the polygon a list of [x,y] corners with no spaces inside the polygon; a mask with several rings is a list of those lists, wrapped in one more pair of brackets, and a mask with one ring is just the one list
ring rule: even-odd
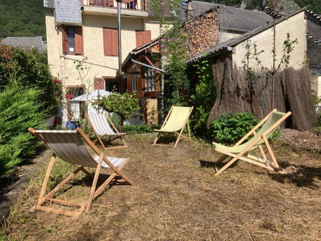
{"label": "pale lime green deck chair facing forward, at the back centre", "polygon": [[[178,138],[175,142],[174,148],[176,148],[177,144],[179,143],[180,138],[183,138],[187,141],[191,141],[191,131],[190,131],[190,124],[189,124],[189,117],[192,113],[193,106],[192,107],[182,107],[182,106],[174,106],[172,105],[170,112],[165,118],[165,121],[163,123],[163,126],[161,130],[154,130],[154,132],[158,132],[158,135],[152,144],[153,146],[159,145],[159,146],[168,146],[168,145],[161,145],[156,144],[157,140],[161,136],[161,134],[166,133],[174,133],[178,135]],[[189,137],[183,136],[183,131],[187,123],[187,128],[189,132]],[[179,133],[178,131],[181,132]]]}

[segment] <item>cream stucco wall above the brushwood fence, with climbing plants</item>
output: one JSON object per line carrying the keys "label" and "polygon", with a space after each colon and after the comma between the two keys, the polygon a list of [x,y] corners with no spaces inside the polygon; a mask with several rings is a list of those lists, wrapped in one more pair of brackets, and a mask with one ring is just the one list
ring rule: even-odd
{"label": "cream stucco wall above the brushwood fence, with climbing plants", "polygon": [[[306,52],[306,20],[304,19],[304,12],[301,12],[288,20],[285,20],[278,25],[276,25],[276,57],[277,64],[281,58],[281,50],[283,48],[283,42],[286,39],[287,33],[290,34],[290,39],[297,39],[298,44],[294,44],[294,50],[292,51],[289,66],[294,68],[300,68]],[[263,53],[259,55],[259,60],[262,61],[262,65],[268,68],[272,68],[273,58],[272,58],[272,43],[273,43],[273,28],[265,30],[264,32],[257,34],[249,39],[251,42],[251,47],[253,48],[253,43],[257,45],[257,50],[264,50]],[[245,59],[247,54],[247,49],[243,44],[239,44],[234,47],[234,54],[232,55],[233,62],[237,66],[242,66],[242,60]],[[253,49],[250,50],[253,53]],[[257,61],[255,59],[249,59],[250,68],[257,67]]]}

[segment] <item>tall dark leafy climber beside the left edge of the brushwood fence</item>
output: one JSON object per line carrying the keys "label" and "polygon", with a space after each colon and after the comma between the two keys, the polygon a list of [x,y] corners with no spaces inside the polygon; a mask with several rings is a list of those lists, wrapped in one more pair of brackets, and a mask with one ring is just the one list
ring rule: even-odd
{"label": "tall dark leafy climber beside the left edge of the brushwood fence", "polygon": [[196,109],[192,117],[195,120],[192,128],[194,133],[203,135],[207,133],[207,119],[216,99],[216,88],[212,64],[209,60],[203,60],[193,66],[196,68],[197,77],[192,78],[198,83],[195,87],[195,94],[191,95],[191,101]]}

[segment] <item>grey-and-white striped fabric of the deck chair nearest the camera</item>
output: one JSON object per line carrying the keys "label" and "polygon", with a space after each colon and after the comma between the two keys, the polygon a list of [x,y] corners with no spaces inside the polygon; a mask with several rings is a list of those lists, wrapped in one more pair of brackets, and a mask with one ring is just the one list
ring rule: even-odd
{"label": "grey-and-white striped fabric of the deck chair nearest the camera", "polygon": [[[99,156],[94,158],[87,151],[77,131],[36,131],[48,143],[50,148],[62,160],[84,167],[97,167]],[[107,159],[116,167],[119,167],[126,159],[107,157]],[[102,167],[110,168],[105,162],[102,162]]]}

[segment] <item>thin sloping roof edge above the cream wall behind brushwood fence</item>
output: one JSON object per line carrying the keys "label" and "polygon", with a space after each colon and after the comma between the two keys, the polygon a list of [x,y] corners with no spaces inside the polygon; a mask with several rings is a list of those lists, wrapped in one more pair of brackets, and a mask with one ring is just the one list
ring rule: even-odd
{"label": "thin sloping roof edge above the cream wall behind brushwood fence", "polygon": [[[303,12],[304,9],[305,8],[295,11],[294,13],[287,15],[286,18],[280,18],[280,19],[276,20],[275,24],[279,24],[279,23],[283,22],[284,20],[291,18],[291,17]],[[192,64],[193,62],[195,62],[199,59],[210,58],[210,57],[219,55],[225,51],[226,52],[232,51],[233,47],[235,47],[236,45],[238,45],[238,44],[244,42],[245,40],[247,40],[255,35],[258,35],[258,34],[262,33],[263,31],[270,29],[272,27],[273,27],[273,23],[259,27],[257,29],[250,31],[250,32],[247,32],[245,34],[239,35],[236,38],[230,39],[224,43],[215,45],[212,48],[207,49],[203,53],[200,53],[200,54],[190,58],[185,63]]]}

